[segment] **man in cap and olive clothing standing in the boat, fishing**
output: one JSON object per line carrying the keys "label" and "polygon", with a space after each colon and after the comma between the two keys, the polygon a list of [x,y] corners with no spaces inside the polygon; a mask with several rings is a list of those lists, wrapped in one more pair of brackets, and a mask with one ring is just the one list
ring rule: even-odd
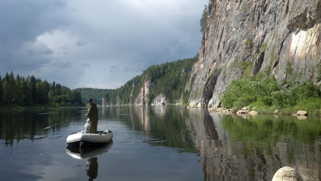
{"label": "man in cap and olive clothing standing in the boat, fishing", "polygon": [[99,119],[97,104],[94,103],[91,98],[89,98],[87,102],[89,104],[89,108],[85,116],[89,117],[89,133],[96,134]]}

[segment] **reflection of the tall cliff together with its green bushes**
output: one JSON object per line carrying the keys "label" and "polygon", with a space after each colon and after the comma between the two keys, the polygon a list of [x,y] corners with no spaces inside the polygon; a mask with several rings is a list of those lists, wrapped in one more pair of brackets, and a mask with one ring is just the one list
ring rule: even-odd
{"label": "reflection of the tall cliff together with its green bushes", "polygon": [[302,121],[293,116],[210,115],[218,137],[198,140],[207,141],[201,147],[207,180],[222,176],[226,180],[271,180],[283,166],[295,168],[304,180],[319,180],[318,117]]}

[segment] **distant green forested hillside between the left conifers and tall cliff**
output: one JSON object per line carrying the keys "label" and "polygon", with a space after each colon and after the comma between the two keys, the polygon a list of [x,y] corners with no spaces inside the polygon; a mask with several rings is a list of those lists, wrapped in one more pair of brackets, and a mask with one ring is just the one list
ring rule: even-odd
{"label": "distant green forested hillside between the left conifers and tall cliff", "polygon": [[184,89],[190,79],[192,66],[197,60],[198,54],[194,58],[150,66],[141,75],[133,77],[117,89],[77,88],[75,90],[81,93],[83,101],[92,98],[94,102],[101,104],[104,98],[107,105],[133,105],[143,82],[148,80],[151,83],[147,96],[149,100],[163,93],[170,103],[175,103],[183,93],[183,103],[186,104],[189,91],[184,91]]}

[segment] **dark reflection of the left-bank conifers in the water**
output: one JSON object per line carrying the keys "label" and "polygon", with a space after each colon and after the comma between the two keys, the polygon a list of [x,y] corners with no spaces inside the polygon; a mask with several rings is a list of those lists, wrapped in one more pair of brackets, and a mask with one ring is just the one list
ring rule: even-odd
{"label": "dark reflection of the left-bank conifers in the water", "polygon": [[[61,123],[82,115],[72,108],[60,109],[39,109],[39,110],[9,110],[0,112],[0,140],[4,140],[6,146],[13,146],[23,139],[39,139],[48,132],[43,129],[48,126]],[[63,122],[59,126],[51,127],[56,132],[70,125],[70,122]],[[39,136],[37,136],[39,135]]]}

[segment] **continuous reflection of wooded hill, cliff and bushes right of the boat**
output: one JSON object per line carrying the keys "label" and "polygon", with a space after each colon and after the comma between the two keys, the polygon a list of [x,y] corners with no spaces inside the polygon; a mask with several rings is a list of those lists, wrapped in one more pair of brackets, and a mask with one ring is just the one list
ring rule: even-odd
{"label": "continuous reflection of wooded hill, cliff and bushes right of the boat", "polygon": [[253,120],[180,106],[124,106],[107,115],[143,132],[151,146],[199,153],[205,180],[271,180],[283,166],[295,168],[304,179],[321,177],[319,119],[257,115]]}

